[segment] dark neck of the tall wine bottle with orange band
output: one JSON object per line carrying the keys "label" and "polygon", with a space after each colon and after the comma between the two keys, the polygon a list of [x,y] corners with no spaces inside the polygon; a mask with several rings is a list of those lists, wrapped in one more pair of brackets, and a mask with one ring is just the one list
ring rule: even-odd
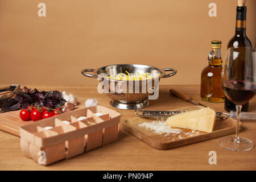
{"label": "dark neck of the tall wine bottle with orange band", "polygon": [[246,36],[246,6],[237,6],[236,36]]}

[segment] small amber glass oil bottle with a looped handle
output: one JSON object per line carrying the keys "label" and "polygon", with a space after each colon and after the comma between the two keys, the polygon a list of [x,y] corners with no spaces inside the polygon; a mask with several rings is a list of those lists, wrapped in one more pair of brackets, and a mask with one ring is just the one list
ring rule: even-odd
{"label": "small amber glass oil bottle with a looped handle", "polygon": [[209,65],[201,72],[201,99],[207,102],[224,102],[221,80],[221,41],[213,40],[210,47],[212,51],[208,54]]}

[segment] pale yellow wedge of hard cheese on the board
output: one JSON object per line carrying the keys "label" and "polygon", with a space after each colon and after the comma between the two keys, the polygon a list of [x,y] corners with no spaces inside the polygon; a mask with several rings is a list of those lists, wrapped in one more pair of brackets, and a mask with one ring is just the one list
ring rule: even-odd
{"label": "pale yellow wedge of hard cheese on the board", "polygon": [[216,112],[209,107],[204,107],[199,110],[172,115],[166,122],[171,127],[212,132],[216,122]]}

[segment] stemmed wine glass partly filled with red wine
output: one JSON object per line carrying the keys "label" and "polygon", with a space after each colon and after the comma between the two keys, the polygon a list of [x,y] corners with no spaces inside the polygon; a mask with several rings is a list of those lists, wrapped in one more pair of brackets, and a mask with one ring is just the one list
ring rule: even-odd
{"label": "stemmed wine glass partly filled with red wine", "polygon": [[220,146],[233,151],[247,151],[254,143],[240,137],[240,113],[243,104],[254,97],[256,92],[256,52],[254,48],[229,48],[222,70],[222,87],[225,96],[236,105],[236,136],[220,140]]}

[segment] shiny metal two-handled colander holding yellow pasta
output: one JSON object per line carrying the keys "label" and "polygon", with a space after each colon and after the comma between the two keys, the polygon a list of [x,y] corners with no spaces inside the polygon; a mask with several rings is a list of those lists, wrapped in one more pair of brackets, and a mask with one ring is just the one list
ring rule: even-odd
{"label": "shiny metal two-handled colander holding yellow pasta", "polygon": [[[171,73],[166,74],[167,71],[171,71]],[[87,72],[93,72],[93,75]],[[118,75],[118,73],[127,75],[126,72],[132,74],[137,72],[151,73],[152,75],[160,74],[157,82],[160,81],[160,78],[171,77],[177,73],[176,69],[173,68],[159,69],[142,64],[116,64],[97,69],[83,69],[81,71],[84,76],[100,80],[102,89],[112,98],[110,105],[119,109],[134,109],[134,107],[141,109],[148,106],[148,96],[154,95],[154,91],[158,88],[158,83],[155,85],[155,79],[124,81],[108,78],[108,76]]]}

